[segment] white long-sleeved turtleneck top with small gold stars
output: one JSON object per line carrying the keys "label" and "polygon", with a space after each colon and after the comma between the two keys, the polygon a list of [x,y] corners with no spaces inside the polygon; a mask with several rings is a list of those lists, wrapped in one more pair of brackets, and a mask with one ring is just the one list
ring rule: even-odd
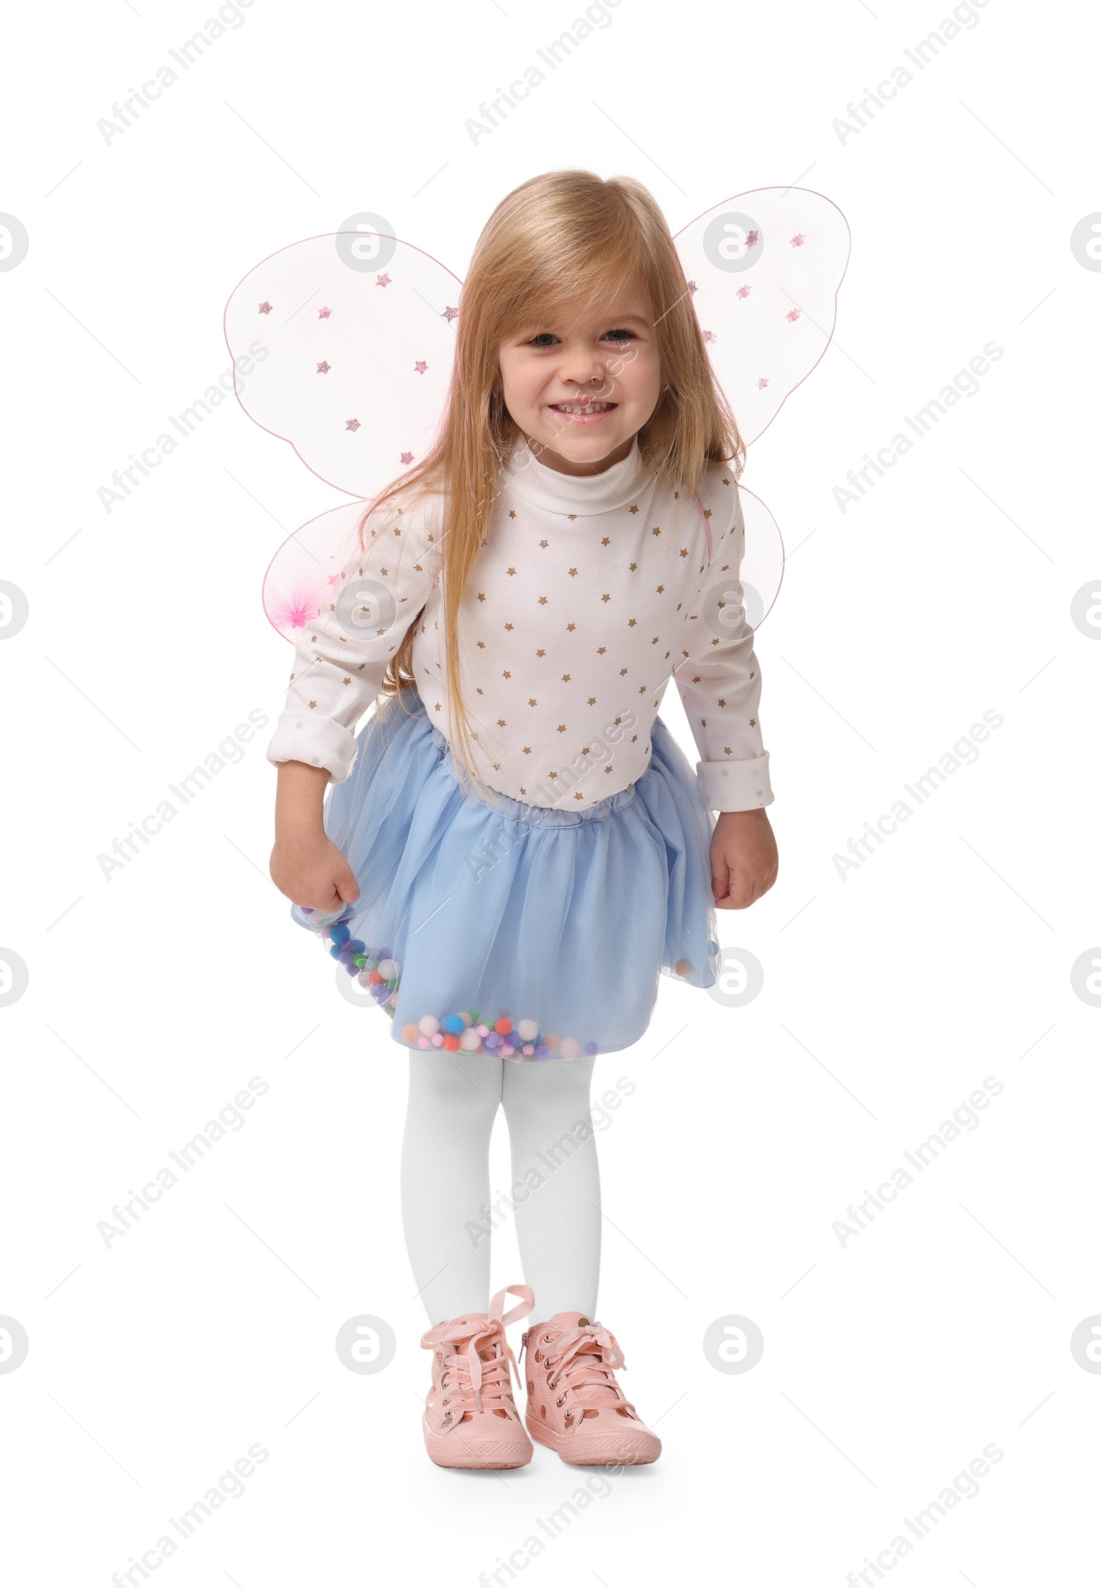
{"label": "white long-sleeved turtleneck top with small gold stars", "polygon": [[[464,700],[489,788],[577,810],[628,788],[650,764],[650,729],[675,678],[704,804],[772,804],[734,475],[709,462],[696,494],[702,513],[691,492],[659,489],[637,440],[593,476],[515,451],[459,611]],[[438,495],[405,497],[369,521],[364,551],[343,570],[343,600],[302,630],[268,761],[346,778],[356,723],[415,619],[416,686],[451,742],[442,508]]]}

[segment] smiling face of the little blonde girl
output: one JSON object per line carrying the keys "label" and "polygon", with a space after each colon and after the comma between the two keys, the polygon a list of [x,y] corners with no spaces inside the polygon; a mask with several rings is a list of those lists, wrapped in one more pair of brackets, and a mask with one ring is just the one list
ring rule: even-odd
{"label": "smiling face of the little blonde girl", "polygon": [[647,300],[624,289],[594,310],[564,305],[497,348],[505,408],[540,462],[597,475],[631,451],[661,395]]}

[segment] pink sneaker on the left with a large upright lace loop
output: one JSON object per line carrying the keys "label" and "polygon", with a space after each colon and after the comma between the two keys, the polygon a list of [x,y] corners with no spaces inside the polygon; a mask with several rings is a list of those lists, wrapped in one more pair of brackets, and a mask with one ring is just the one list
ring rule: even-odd
{"label": "pink sneaker on the left with a large upright lace loop", "polygon": [[[523,1304],[502,1316],[510,1294]],[[488,1313],[438,1323],[421,1340],[432,1351],[424,1445],[437,1467],[524,1467],[531,1461],[531,1440],[512,1397],[516,1358],[505,1326],[526,1318],[534,1304],[524,1285],[508,1285]]]}

